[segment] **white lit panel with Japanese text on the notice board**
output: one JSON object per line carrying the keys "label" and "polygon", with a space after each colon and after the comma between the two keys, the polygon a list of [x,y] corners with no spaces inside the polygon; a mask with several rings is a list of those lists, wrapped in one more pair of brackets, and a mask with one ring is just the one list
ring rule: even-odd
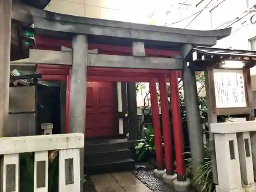
{"label": "white lit panel with Japanese text on the notice board", "polygon": [[214,69],[216,108],[246,107],[242,70]]}

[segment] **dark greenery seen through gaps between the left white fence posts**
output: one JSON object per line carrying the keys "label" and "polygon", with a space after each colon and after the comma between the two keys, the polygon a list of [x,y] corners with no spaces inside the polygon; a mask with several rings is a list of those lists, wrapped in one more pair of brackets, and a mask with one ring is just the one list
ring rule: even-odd
{"label": "dark greenery seen through gaps between the left white fence posts", "polygon": [[[58,151],[49,152],[48,191],[58,191]],[[34,191],[34,154],[20,154],[20,192]]]}

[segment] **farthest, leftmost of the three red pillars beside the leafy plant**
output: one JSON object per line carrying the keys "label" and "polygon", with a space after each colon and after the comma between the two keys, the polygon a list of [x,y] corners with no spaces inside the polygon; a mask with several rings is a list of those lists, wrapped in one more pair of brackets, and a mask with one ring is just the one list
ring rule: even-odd
{"label": "farthest, leftmost of the three red pillars beside the leafy plant", "polygon": [[150,80],[150,98],[151,98],[153,127],[154,127],[154,134],[155,134],[157,169],[164,170],[162,134],[161,134],[161,127],[160,127],[160,117],[159,117],[159,108],[158,108],[158,100],[157,100],[157,87],[156,87],[155,79]]}

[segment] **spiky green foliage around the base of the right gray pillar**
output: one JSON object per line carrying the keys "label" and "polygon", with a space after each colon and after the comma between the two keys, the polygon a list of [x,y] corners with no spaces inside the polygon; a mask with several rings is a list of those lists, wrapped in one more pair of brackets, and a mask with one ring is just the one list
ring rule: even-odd
{"label": "spiky green foliage around the base of the right gray pillar", "polygon": [[[214,192],[215,184],[212,176],[212,165],[210,158],[210,148],[204,146],[204,161],[203,164],[198,168],[198,174],[193,177],[194,185],[200,185],[201,192]],[[190,152],[188,152],[190,153]],[[189,177],[193,174],[192,160],[191,158],[185,159],[186,163],[186,175]]]}

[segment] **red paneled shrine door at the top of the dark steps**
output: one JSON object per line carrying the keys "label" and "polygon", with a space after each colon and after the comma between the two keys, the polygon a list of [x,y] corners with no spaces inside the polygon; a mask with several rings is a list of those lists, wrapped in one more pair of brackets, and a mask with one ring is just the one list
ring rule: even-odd
{"label": "red paneled shrine door at the top of the dark steps", "polygon": [[87,82],[86,137],[114,136],[113,82]]}

